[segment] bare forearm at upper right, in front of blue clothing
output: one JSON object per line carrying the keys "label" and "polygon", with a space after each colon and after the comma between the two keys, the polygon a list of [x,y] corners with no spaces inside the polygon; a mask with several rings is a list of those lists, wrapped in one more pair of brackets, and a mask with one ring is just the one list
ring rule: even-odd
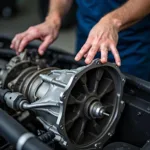
{"label": "bare forearm at upper right, in front of blue clothing", "polygon": [[128,0],[128,2],[120,8],[107,14],[103,18],[110,19],[120,31],[137,23],[149,13],[150,0]]}

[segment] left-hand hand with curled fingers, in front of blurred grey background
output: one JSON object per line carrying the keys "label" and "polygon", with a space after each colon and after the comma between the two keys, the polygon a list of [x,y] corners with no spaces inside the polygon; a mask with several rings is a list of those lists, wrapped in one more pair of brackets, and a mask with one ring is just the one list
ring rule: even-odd
{"label": "left-hand hand with curled fingers, in front of blurred grey background", "polygon": [[25,46],[35,40],[40,39],[42,44],[40,45],[38,52],[43,55],[49,44],[54,42],[58,36],[60,24],[53,20],[47,20],[44,23],[30,27],[23,33],[17,34],[11,43],[11,48],[16,50],[16,53],[20,53],[24,50]]}

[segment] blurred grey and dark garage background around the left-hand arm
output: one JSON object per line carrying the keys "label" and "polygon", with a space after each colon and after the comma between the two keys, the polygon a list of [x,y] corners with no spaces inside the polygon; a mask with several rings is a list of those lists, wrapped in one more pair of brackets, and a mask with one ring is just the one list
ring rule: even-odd
{"label": "blurred grey and dark garage background around the left-hand arm", "polygon": [[[39,24],[47,14],[49,0],[2,0],[0,1],[0,35],[14,37],[29,26]],[[76,5],[64,17],[63,27],[52,47],[74,53],[76,42]],[[40,44],[39,41],[33,43]]]}

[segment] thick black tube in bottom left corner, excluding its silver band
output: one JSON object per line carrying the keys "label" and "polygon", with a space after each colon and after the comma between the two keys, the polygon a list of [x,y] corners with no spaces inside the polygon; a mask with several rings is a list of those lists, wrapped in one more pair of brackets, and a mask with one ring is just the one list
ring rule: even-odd
{"label": "thick black tube in bottom left corner, excluding its silver band", "polygon": [[[16,145],[19,138],[25,133],[29,133],[22,125],[0,109],[0,135],[11,144]],[[36,137],[32,137],[25,142],[22,150],[51,150]]]}

